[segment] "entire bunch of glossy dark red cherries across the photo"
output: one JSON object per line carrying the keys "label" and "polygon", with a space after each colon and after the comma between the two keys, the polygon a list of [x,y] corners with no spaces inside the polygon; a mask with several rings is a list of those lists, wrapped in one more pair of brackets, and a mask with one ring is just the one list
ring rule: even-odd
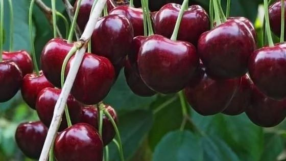
{"label": "entire bunch of glossy dark red cherries across the photo", "polygon": [[[84,30],[94,1],[77,2],[77,24]],[[153,2],[149,6],[156,10]],[[103,147],[112,141],[115,130],[104,116],[100,136],[98,106],[117,122],[115,110],[101,101],[123,67],[134,94],[151,97],[183,90],[189,105],[203,116],[246,112],[263,127],[276,126],[286,117],[286,45],[270,43],[256,49],[251,21],[225,16],[219,2],[211,2],[214,21],[213,13],[209,17],[201,6],[186,7],[187,1],[182,6],[165,4],[151,13],[145,0],[142,8],[134,8],[133,2],[107,1],[108,15],[94,28],[91,53],[84,54],[67,100],[73,125],[68,127],[63,117],[55,139],[58,161],[102,160]],[[269,7],[269,15],[271,29],[279,35],[281,2]],[[31,158],[40,155],[61,93],[62,65],[72,47],[72,41],[62,38],[47,42],[41,53],[42,71],[36,73],[32,73],[33,61],[26,51],[3,52],[0,101],[10,100],[21,88],[23,100],[40,118],[20,124],[15,134],[19,148]],[[65,76],[73,61],[71,57]]]}

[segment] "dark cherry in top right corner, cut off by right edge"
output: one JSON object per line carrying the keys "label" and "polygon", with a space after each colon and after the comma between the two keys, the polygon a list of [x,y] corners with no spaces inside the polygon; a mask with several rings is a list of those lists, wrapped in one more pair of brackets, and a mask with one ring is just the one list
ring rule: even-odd
{"label": "dark cherry in top right corner, cut off by right edge", "polygon": [[[286,3],[286,1],[284,1]],[[286,8],[286,5],[285,5]],[[269,22],[270,22],[270,28],[272,32],[280,37],[281,33],[281,1],[276,1],[273,5],[271,5],[268,9],[269,11]],[[285,12],[286,16],[286,12]],[[286,26],[286,21],[285,21]],[[286,35],[284,35],[284,38],[286,38]]]}

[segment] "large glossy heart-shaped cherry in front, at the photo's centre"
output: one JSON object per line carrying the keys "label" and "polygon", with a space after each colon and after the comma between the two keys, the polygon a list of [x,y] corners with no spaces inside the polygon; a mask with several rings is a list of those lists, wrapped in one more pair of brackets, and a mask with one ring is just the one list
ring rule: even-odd
{"label": "large glossy heart-shaped cherry in front, at the photo's centre", "polygon": [[141,45],[137,63],[148,87],[170,94],[187,85],[199,65],[199,58],[191,43],[152,35]]}

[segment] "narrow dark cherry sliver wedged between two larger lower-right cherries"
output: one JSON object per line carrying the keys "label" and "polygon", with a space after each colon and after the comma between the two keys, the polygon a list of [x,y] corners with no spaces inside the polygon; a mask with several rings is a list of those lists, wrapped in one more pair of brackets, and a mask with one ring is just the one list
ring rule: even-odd
{"label": "narrow dark cherry sliver wedged between two larger lower-right cherries", "polygon": [[227,108],[222,113],[235,116],[243,113],[250,105],[252,81],[245,75],[241,78],[241,83],[231,99]]}

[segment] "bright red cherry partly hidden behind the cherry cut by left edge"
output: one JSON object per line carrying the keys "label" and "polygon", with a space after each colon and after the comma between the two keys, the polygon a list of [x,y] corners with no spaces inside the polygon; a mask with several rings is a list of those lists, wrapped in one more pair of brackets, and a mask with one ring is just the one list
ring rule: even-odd
{"label": "bright red cherry partly hidden behind the cherry cut by left edge", "polygon": [[33,61],[29,53],[25,50],[20,50],[16,52],[3,52],[3,60],[11,60],[15,62],[20,68],[23,77],[26,74],[33,72]]}

